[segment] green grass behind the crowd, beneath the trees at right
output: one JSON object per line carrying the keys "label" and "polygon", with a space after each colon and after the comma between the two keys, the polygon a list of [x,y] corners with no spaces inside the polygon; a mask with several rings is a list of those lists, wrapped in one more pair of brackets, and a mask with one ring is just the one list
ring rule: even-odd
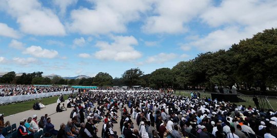
{"label": "green grass behind the crowd, beneath the trees at right", "polygon": [[[185,90],[176,90],[176,95],[182,95],[182,96],[188,96],[190,97],[190,91],[185,91]],[[210,97],[211,98],[211,94],[210,93],[203,93],[203,91],[200,91],[201,97]],[[236,105],[245,105],[246,107],[248,107],[248,105],[251,105],[252,107],[254,107],[254,102],[252,101],[252,96],[239,96],[239,98],[245,100],[246,102],[240,102],[240,103],[235,103]],[[259,99],[259,97],[258,97]],[[271,106],[273,107],[274,110],[277,109],[277,97],[268,97],[267,98],[269,103],[271,104]],[[267,108],[267,105],[265,106],[265,108]]]}

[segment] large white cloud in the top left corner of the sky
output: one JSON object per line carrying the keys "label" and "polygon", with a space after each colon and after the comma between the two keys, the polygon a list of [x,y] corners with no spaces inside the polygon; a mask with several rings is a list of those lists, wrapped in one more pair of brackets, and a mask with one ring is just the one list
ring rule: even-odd
{"label": "large white cloud in the top left corner of the sky", "polygon": [[16,18],[22,32],[33,35],[63,36],[65,28],[50,9],[42,7],[37,0],[2,1],[3,10]]}

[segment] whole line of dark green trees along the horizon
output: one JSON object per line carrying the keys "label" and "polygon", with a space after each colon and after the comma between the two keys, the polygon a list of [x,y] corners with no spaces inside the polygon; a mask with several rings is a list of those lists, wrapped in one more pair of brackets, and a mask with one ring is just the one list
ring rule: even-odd
{"label": "whole line of dark green trees along the horizon", "polygon": [[[208,45],[207,45],[208,47]],[[140,68],[125,71],[120,78],[108,73],[98,73],[92,78],[67,80],[42,77],[43,72],[15,76],[10,72],[0,78],[0,83],[13,84],[66,84],[93,86],[133,86],[152,88],[208,88],[215,85],[250,89],[275,88],[277,80],[277,29],[264,30],[252,38],[232,44],[229,50],[206,52],[192,60],[181,61],[172,68],[159,68],[144,74]]]}

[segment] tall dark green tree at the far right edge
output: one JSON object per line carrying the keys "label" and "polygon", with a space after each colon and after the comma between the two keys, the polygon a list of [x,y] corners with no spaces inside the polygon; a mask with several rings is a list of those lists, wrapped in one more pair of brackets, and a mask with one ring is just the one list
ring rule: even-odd
{"label": "tall dark green tree at the far right edge", "polygon": [[241,40],[236,48],[239,59],[238,76],[248,88],[266,86],[276,82],[277,29],[264,30],[253,38]]}

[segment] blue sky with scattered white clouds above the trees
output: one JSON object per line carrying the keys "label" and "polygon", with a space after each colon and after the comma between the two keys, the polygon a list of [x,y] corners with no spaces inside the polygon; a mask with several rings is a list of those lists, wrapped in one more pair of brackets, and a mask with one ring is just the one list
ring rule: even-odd
{"label": "blue sky with scattered white clouds above the trees", "polygon": [[0,73],[149,74],[277,26],[275,0],[0,3]]}

